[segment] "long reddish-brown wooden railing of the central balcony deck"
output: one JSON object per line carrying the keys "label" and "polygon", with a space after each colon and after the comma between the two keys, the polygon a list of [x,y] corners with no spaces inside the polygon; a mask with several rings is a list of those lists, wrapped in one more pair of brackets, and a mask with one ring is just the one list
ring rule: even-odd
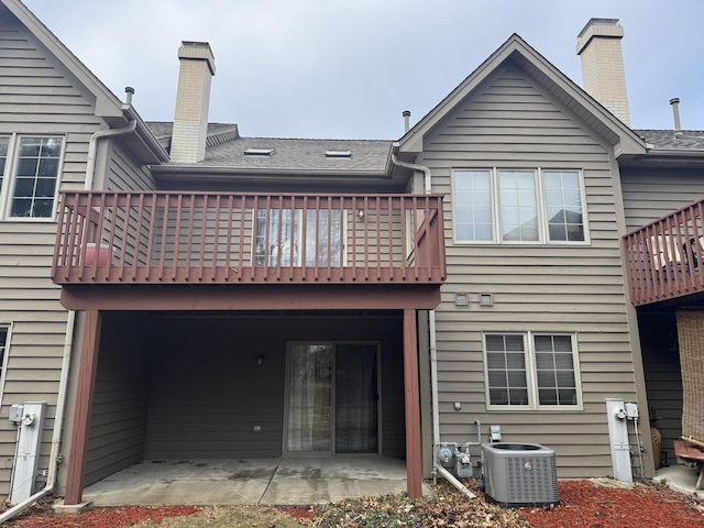
{"label": "long reddish-brown wooden railing of the central balcony deck", "polygon": [[64,191],[57,284],[425,283],[440,195]]}

